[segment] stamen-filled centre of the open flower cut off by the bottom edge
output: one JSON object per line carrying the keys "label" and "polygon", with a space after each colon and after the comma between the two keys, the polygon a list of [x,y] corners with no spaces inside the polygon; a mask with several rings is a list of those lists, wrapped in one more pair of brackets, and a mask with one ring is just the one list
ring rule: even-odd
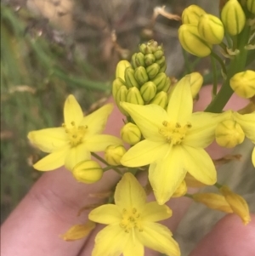
{"label": "stamen-filled centre of the open flower cut off by the bottom edge", "polygon": [[129,233],[130,230],[137,228],[140,232],[143,231],[141,225],[141,216],[138,213],[136,208],[122,210],[122,221],[120,226],[125,230],[125,232]]}

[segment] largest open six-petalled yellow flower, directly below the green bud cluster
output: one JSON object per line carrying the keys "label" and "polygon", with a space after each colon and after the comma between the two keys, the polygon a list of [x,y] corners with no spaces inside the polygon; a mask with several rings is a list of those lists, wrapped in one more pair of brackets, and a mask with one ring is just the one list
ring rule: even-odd
{"label": "largest open six-petalled yellow flower, directly below the green bud cluster", "polygon": [[144,140],[127,151],[121,162],[127,167],[150,164],[150,185],[159,204],[173,195],[187,171],[203,184],[216,182],[212,159],[203,148],[212,143],[214,130],[224,115],[192,114],[189,76],[173,88],[167,111],[153,104],[121,105],[144,135]]}

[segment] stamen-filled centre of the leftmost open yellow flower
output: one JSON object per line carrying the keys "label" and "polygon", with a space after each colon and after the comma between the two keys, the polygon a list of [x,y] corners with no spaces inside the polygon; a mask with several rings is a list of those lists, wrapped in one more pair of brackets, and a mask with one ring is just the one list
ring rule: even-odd
{"label": "stamen-filled centre of the leftmost open yellow flower", "polygon": [[71,122],[71,128],[67,128],[65,123],[62,124],[62,127],[65,128],[65,133],[69,137],[71,147],[82,143],[82,139],[88,128],[88,126],[77,126],[75,122]]}

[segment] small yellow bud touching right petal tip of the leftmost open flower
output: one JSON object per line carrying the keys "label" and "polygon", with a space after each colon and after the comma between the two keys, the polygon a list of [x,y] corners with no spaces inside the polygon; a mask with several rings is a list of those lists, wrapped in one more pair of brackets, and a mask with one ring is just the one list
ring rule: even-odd
{"label": "small yellow bud touching right petal tip of the leftmost open flower", "polygon": [[105,161],[110,165],[117,166],[121,164],[122,156],[126,152],[122,145],[108,145],[105,149]]}

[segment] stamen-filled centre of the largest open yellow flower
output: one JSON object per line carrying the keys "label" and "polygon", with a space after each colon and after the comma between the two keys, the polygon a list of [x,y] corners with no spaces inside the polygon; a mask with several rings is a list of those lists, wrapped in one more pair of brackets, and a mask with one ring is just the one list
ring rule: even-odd
{"label": "stamen-filled centre of the largest open yellow flower", "polygon": [[169,144],[178,145],[184,140],[186,133],[192,127],[190,122],[181,126],[178,122],[162,122],[163,127],[159,133],[163,135]]}

